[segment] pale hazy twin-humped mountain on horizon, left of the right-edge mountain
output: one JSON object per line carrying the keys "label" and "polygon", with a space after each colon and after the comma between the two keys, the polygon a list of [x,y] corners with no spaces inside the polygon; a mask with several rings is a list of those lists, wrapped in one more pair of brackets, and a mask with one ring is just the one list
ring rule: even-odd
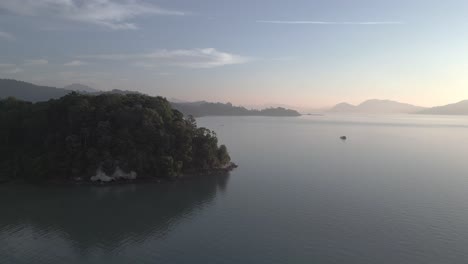
{"label": "pale hazy twin-humped mountain on horizon, left of the right-edge mountain", "polygon": [[348,103],[340,103],[332,107],[328,112],[335,113],[370,113],[370,114],[409,114],[423,110],[424,107],[400,103],[390,100],[367,100],[354,106]]}

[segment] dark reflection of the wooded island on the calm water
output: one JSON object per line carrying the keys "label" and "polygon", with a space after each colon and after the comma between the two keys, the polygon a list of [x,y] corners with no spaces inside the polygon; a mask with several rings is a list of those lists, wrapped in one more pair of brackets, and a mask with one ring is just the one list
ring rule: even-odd
{"label": "dark reflection of the wooded island on the calm water", "polygon": [[112,250],[128,240],[164,236],[209,204],[218,191],[224,192],[228,178],[226,174],[105,187],[0,186],[0,243],[8,239],[9,230],[21,229],[61,234],[84,251],[95,246]]}

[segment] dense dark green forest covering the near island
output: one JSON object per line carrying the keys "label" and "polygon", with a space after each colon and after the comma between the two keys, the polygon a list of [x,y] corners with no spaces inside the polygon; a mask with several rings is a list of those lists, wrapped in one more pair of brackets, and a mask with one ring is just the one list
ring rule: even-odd
{"label": "dense dark green forest covering the near island", "polygon": [[0,100],[0,141],[3,179],[88,180],[97,171],[162,178],[230,164],[213,131],[140,94]]}

